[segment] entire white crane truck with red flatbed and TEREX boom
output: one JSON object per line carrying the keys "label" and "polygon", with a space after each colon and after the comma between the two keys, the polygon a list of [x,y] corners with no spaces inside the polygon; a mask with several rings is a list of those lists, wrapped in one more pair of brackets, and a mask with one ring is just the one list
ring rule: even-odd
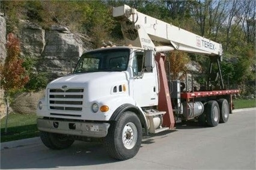
{"label": "entire white crane truck with red flatbed and TEREX boom", "polygon": [[[221,44],[128,5],[115,7],[113,16],[126,46],[85,52],[73,73],[50,82],[38,101],[37,127],[46,147],[100,139],[111,157],[126,160],[138,153],[144,134],[174,129],[180,121],[211,127],[228,121],[232,94],[239,91],[224,87]],[[166,76],[165,52],[172,50],[210,58],[207,88],[188,90],[187,81]]]}

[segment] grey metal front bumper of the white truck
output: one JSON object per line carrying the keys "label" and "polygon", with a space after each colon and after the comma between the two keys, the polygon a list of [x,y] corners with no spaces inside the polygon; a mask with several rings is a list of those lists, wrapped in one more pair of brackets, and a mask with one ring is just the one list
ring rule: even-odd
{"label": "grey metal front bumper of the white truck", "polygon": [[65,135],[104,138],[108,134],[109,126],[109,123],[86,123],[37,118],[38,130]]}

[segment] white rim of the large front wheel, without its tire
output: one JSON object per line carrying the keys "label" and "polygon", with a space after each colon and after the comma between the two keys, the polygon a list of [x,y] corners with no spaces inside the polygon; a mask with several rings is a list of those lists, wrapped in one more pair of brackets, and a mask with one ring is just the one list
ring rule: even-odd
{"label": "white rim of the large front wheel, without its tire", "polygon": [[122,133],[122,140],[124,147],[128,150],[132,149],[138,138],[138,132],[135,124],[133,123],[127,123],[126,126],[124,126],[123,133]]}

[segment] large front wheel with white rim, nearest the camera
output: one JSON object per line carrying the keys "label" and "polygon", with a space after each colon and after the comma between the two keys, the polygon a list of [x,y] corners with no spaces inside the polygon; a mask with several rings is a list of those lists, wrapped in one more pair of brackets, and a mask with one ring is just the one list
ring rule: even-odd
{"label": "large front wheel with white rim, nearest the camera", "polygon": [[127,111],[121,114],[109,127],[105,145],[111,157],[127,160],[134,157],[141,147],[142,127],[135,113]]}

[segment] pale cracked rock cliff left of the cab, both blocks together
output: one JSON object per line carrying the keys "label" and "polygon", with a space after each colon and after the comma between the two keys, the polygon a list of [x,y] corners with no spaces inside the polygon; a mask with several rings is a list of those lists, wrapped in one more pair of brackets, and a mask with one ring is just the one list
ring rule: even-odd
{"label": "pale cracked rock cliff left of the cab, both blocks together", "polygon": [[50,80],[70,73],[79,56],[92,46],[90,38],[61,25],[44,30],[28,20],[20,20],[18,32],[21,56],[38,61],[35,71],[47,72]]}

